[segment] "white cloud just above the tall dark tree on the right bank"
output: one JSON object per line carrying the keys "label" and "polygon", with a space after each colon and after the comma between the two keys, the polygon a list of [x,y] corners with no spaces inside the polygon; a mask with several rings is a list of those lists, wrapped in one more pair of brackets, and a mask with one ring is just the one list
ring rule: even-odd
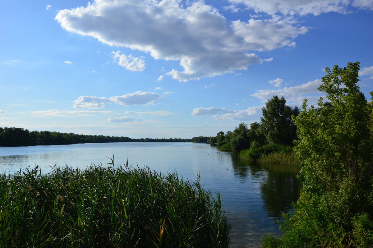
{"label": "white cloud just above the tall dark tree on the right bank", "polygon": [[313,94],[319,92],[317,88],[322,84],[320,79],[310,81],[306,84],[297,85],[294,87],[285,87],[279,90],[257,90],[254,94],[250,95],[261,99],[263,102],[272,98],[274,95],[279,97],[283,96],[287,101],[301,103],[304,98],[308,99],[305,94]]}

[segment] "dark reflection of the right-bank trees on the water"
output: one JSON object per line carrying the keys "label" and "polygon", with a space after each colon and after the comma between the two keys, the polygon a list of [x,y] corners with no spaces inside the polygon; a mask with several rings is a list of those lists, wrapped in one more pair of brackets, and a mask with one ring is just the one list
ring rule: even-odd
{"label": "dark reflection of the right-bank trees on the water", "polygon": [[299,198],[301,183],[297,179],[300,170],[298,166],[282,164],[254,163],[241,160],[232,154],[232,164],[235,175],[239,180],[260,178],[263,210],[276,222],[281,213],[292,210],[292,202]]}

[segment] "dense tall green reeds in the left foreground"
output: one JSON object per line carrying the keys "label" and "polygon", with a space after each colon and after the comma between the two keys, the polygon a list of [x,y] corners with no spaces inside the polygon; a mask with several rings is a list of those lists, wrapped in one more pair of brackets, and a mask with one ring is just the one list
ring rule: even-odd
{"label": "dense tall green reeds in the left foreground", "polygon": [[128,163],[0,175],[0,247],[229,247],[220,195],[199,180]]}

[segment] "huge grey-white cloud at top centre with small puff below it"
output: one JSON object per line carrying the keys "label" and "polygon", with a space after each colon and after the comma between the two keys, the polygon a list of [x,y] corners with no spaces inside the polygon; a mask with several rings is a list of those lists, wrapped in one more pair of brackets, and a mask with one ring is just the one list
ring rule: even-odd
{"label": "huge grey-white cloud at top centre with small puff below it", "polygon": [[[60,10],[55,19],[67,31],[105,44],[144,51],[154,59],[179,60],[184,71],[166,73],[179,81],[269,62],[271,59],[248,51],[294,46],[294,39],[308,30],[289,18],[228,21],[203,1],[184,6],[179,0],[100,0],[86,7]],[[122,55],[115,56],[119,59]],[[128,56],[124,58],[128,60]]]}

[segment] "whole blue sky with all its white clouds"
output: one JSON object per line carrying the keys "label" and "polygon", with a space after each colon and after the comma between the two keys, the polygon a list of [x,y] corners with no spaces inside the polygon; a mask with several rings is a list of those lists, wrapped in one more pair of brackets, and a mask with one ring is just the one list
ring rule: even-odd
{"label": "whole blue sky with all its white clouds", "polygon": [[0,127],[216,136],[356,61],[373,91],[373,0],[12,0],[0,33]]}

